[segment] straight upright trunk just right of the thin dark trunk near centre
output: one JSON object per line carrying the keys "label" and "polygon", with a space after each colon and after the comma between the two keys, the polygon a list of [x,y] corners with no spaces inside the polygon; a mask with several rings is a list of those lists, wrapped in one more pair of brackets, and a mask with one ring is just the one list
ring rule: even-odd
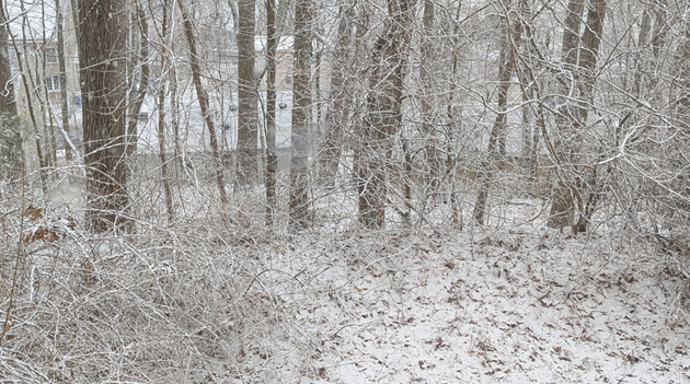
{"label": "straight upright trunk just right of the thin dark trunk near centre", "polygon": [[311,121],[311,0],[297,0],[295,9],[295,70],[292,83],[292,166],[290,168],[290,225],[308,223],[308,151]]}

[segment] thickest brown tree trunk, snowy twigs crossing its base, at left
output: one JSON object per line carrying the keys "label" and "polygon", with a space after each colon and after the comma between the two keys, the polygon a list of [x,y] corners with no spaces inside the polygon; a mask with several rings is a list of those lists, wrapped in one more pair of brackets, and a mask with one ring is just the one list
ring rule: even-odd
{"label": "thickest brown tree trunk, snowy twigs crossing its base, at left", "polygon": [[104,232],[118,226],[129,207],[125,164],[125,2],[79,2],[79,65],[83,97],[88,225]]}

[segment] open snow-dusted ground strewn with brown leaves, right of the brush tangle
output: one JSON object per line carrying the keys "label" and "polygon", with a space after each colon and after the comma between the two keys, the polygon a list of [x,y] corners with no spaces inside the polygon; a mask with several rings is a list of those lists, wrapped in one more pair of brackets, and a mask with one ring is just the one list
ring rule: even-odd
{"label": "open snow-dusted ground strewn with brown leaves, right of the brush tangle", "polygon": [[289,329],[238,382],[690,383],[687,281],[630,238],[303,236],[260,257]]}

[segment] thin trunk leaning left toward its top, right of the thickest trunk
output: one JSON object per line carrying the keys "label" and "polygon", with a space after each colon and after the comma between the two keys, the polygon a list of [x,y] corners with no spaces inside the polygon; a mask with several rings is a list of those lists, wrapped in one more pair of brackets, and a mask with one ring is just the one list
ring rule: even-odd
{"label": "thin trunk leaning left toward its top, right of the thickest trunk", "polygon": [[223,176],[223,167],[222,162],[220,161],[220,153],[218,152],[218,136],[216,136],[216,126],[214,125],[214,119],[211,118],[209,105],[208,105],[208,94],[204,89],[204,84],[202,84],[202,68],[199,66],[199,57],[196,50],[196,39],[194,37],[194,27],[192,25],[192,20],[187,13],[186,8],[182,3],[182,0],[177,0],[177,5],[180,8],[180,13],[182,13],[182,22],[184,24],[184,34],[187,37],[187,45],[189,47],[189,66],[192,68],[192,78],[194,80],[194,88],[196,90],[196,97],[199,101],[199,108],[202,109],[202,116],[204,116],[204,120],[206,121],[206,127],[208,128],[208,136],[211,147],[211,156],[214,171],[216,172],[216,186],[218,187],[218,193],[220,194],[220,201],[225,205],[228,202],[228,194],[226,193],[226,181]]}

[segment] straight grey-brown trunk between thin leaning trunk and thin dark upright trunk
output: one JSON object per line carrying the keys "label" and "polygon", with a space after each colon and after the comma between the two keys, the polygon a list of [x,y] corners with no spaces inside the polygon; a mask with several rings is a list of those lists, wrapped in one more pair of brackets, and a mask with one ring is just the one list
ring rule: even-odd
{"label": "straight grey-brown trunk between thin leaning trunk and thin dark upright trunk", "polygon": [[258,132],[258,95],[254,77],[255,1],[238,2],[238,150],[237,173],[240,185],[256,182],[256,143]]}

